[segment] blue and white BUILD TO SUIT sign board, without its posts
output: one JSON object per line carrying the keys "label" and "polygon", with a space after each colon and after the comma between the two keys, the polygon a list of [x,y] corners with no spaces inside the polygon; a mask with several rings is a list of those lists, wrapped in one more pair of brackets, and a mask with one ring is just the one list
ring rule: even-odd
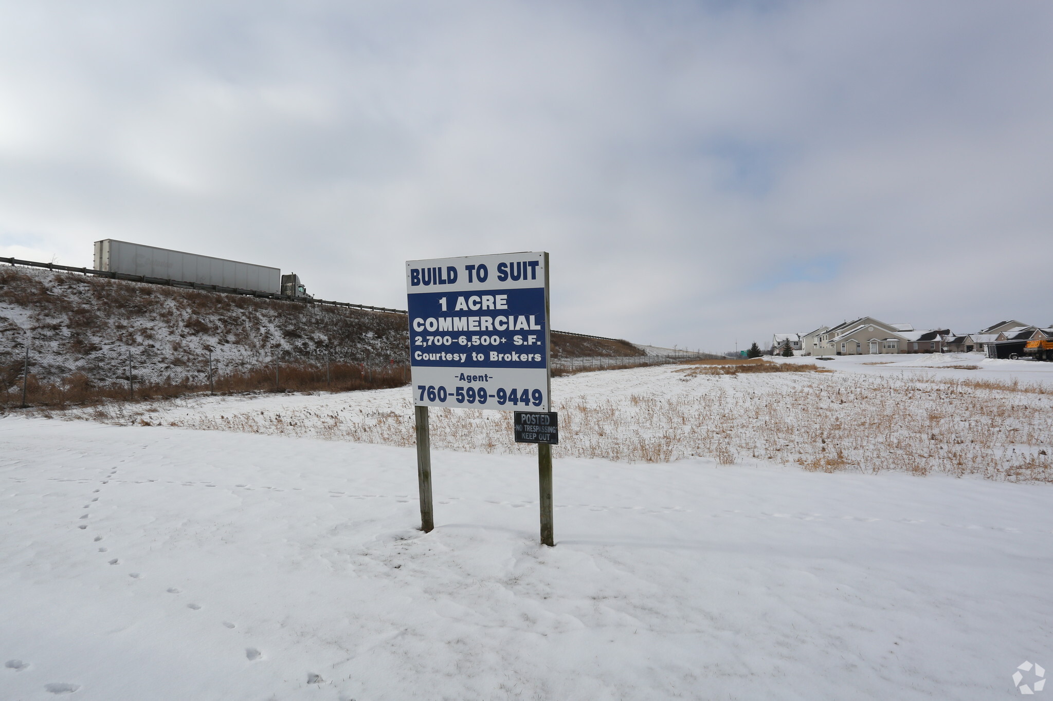
{"label": "blue and white BUILD TO SUIT sign board, without its posts", "polygon": [[549,410],[548,257],[405,264],[417,406]]}

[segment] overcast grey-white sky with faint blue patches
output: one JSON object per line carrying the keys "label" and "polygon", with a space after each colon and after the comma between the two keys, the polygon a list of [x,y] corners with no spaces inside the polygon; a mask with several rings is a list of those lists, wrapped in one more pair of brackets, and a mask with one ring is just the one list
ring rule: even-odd
{"label": "overcast grey-white sky with faint blue patches", "polygon": [[721,351],[1053,323],[1053,2],[2,2],[0,255],[119,239]]}

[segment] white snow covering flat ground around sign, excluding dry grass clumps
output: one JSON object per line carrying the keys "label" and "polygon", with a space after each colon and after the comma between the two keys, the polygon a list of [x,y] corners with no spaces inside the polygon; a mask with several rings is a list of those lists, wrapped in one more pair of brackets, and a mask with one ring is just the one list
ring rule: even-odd
{"label": "white snow covering flat ground around sign, excluding dry grass clumps", "polygon": [[[554,393],[654,421],[675,415],[655,397],[678,392],[723,393],[763,422],[751,412],[806,383],[917,385],[918,411],[1004,394],[1050,413],[1042,394],[939,394],[888,366],[829,365],[858,372],[645,368]],[[135,426],[0,418],[0,699],[992,699],[1019,695],[1025,660],[1053,668],[1050,483],[564,445],[548,549],[536,459],[499,437],[433,452],[423,534],[414,450],[380,445],[401,440],[405,392],[99,414]],[[509,418],[459,415],[480,434]],[[1048,441],[1042,426],[1029,430]]]}

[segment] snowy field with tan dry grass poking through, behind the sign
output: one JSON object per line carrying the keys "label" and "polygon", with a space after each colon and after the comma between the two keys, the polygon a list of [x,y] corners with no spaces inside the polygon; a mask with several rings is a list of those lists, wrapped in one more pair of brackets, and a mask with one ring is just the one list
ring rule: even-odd
{"label": "snowy field with tan dry grass poking through, behind the sign", "polygon": [[[871,356],[873,357],[873,356]],[[809,470],[980,474],[1053,481],[1053,364],[990,362],[988,370],[927,370],[840,358],[831,372],[706,374],[708,366],[660,366],[553,379],[564,440],[557,457],[668,462],[776,461]],[[966,357],[939,356],[945,364]],[[779,363],[808,365],[801,358]],[[999,364],[1014,364],[1020,370]],[[846,372],[846,370],[848,370]],[[977,380],[993,383],[975,386]],[[74,410],[116,425],[152,424],[335,440],[414,445],[408,388],[342,394],[196,396]],[[433,446],[523,454],[504,412],[433,410]]]}

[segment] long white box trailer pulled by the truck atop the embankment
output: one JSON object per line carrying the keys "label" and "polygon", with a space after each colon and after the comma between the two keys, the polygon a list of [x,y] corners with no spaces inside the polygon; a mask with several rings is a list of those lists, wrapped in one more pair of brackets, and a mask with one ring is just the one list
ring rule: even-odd
{"label": "long white box trailer pulled by the truck atop the embankment", "polygon": [[95,269],[202,285],[281,293],[281,270],[211,255],[104,239],[95,242]]}

